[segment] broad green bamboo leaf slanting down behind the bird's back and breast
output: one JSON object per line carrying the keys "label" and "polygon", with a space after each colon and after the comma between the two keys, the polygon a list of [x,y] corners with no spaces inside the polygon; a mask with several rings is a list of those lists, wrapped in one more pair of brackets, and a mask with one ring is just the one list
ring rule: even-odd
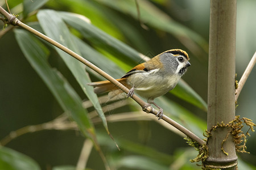
{"label": "broad green bamboo leaf slanting down behind the bird's back and breast", "polygon": [[[114,39],[114,37],[107,35],[97,27],[94,27],[92,24],[85,22],[85,19],[82,19],[84,16],[75,15],[69,12],[60,12],[60,15],[63,17],[65,22],[77,29],[92,44],[100,46],[104,50],[107,50],[109,53],[112,53],[114,56],[119,54],[117,57],[121,58],[123,62],[131,60],[134,62],[142,61],[139,53],[136,50],[130,48],[123,42]],[[98,61],[100,60],[100,58],[97,59]],[[97,62],[93,63],[96,64]],[[101,68],[102,67],[104,66],[101,65]],[[192,90],[191,87],[188,86],[188,84],[180,82],[175,88],[177,88],[177,90],[173,92],[174,95],[206,111],[207,104],[195,91]]]}

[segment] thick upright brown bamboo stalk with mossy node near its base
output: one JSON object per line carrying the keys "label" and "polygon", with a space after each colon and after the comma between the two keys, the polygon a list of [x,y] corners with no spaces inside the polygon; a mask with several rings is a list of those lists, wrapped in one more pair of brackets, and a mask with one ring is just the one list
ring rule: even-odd
{"label": "thick upright brown bamboo stalk with mossy node near its base", "polygon": [[[209,74],[207,128],[235,116],[236,0],[210,1]],[[217,128],[209,138],[209,156],[205,165],[214,168],[235,168],[237,155],[232,135],[221,143],[231,129]]]}

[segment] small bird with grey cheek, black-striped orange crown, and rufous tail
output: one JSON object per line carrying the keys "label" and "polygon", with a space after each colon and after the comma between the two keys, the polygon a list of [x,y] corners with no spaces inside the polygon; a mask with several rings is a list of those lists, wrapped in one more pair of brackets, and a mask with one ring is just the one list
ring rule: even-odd
{"label": "small bird with grey cheek, black-striped orange crown, and rufous tail", "polygon": [[[187,71],[187,67],[191,66],[188,60],[188,54],[184,50],[167,50],[149,61],[133,67],[122,78],[116,80],[130,89],[128,97],[133,96],[135,92],[135,94],[146,98],[147,103],[154,104],[159,108],[156,116],[160,120],[163,116],[163,109],[154,102],[154,99],[166,94],[176,86],[181,76]],[[123,92],[109,80],[88,83],[88,85],[96,87],[94,88],[96,94],[109,92],[110,98]]]}

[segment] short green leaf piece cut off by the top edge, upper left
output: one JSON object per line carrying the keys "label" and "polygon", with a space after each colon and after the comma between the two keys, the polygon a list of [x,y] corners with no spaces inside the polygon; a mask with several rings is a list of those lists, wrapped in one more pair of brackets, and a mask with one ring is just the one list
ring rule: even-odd
{"label": "short green leaf piece cut off by the top edge, upper left", "polygon": [[46,4],[49,0],[24,0],[23,1],[23,15],[24,18],[27,17],[30,12],[38,10],[44,4]]}

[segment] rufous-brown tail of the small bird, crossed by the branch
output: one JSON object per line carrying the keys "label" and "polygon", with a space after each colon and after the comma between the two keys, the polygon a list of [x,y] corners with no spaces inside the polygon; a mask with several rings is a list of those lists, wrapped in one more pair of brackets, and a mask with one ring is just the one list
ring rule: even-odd
{"label": "rufous-brown tail of the small bird, crossed by the branch", "polygon": [[[116,79],[119,83],[123,84],[123,86],[126,86],[127,88],[130,88],[129,85],[126,82],[126,78]],[[123,91],[120,90],[115,84],[110,82],[109,80],[101,81],[101,82],[92,82],[87,83],[89,86],[93,86],[94,93],[96,94],[102,94],[104,92],[109,92],[109,98],[113,98],[114,96],[117,96],[121,94]]]}

